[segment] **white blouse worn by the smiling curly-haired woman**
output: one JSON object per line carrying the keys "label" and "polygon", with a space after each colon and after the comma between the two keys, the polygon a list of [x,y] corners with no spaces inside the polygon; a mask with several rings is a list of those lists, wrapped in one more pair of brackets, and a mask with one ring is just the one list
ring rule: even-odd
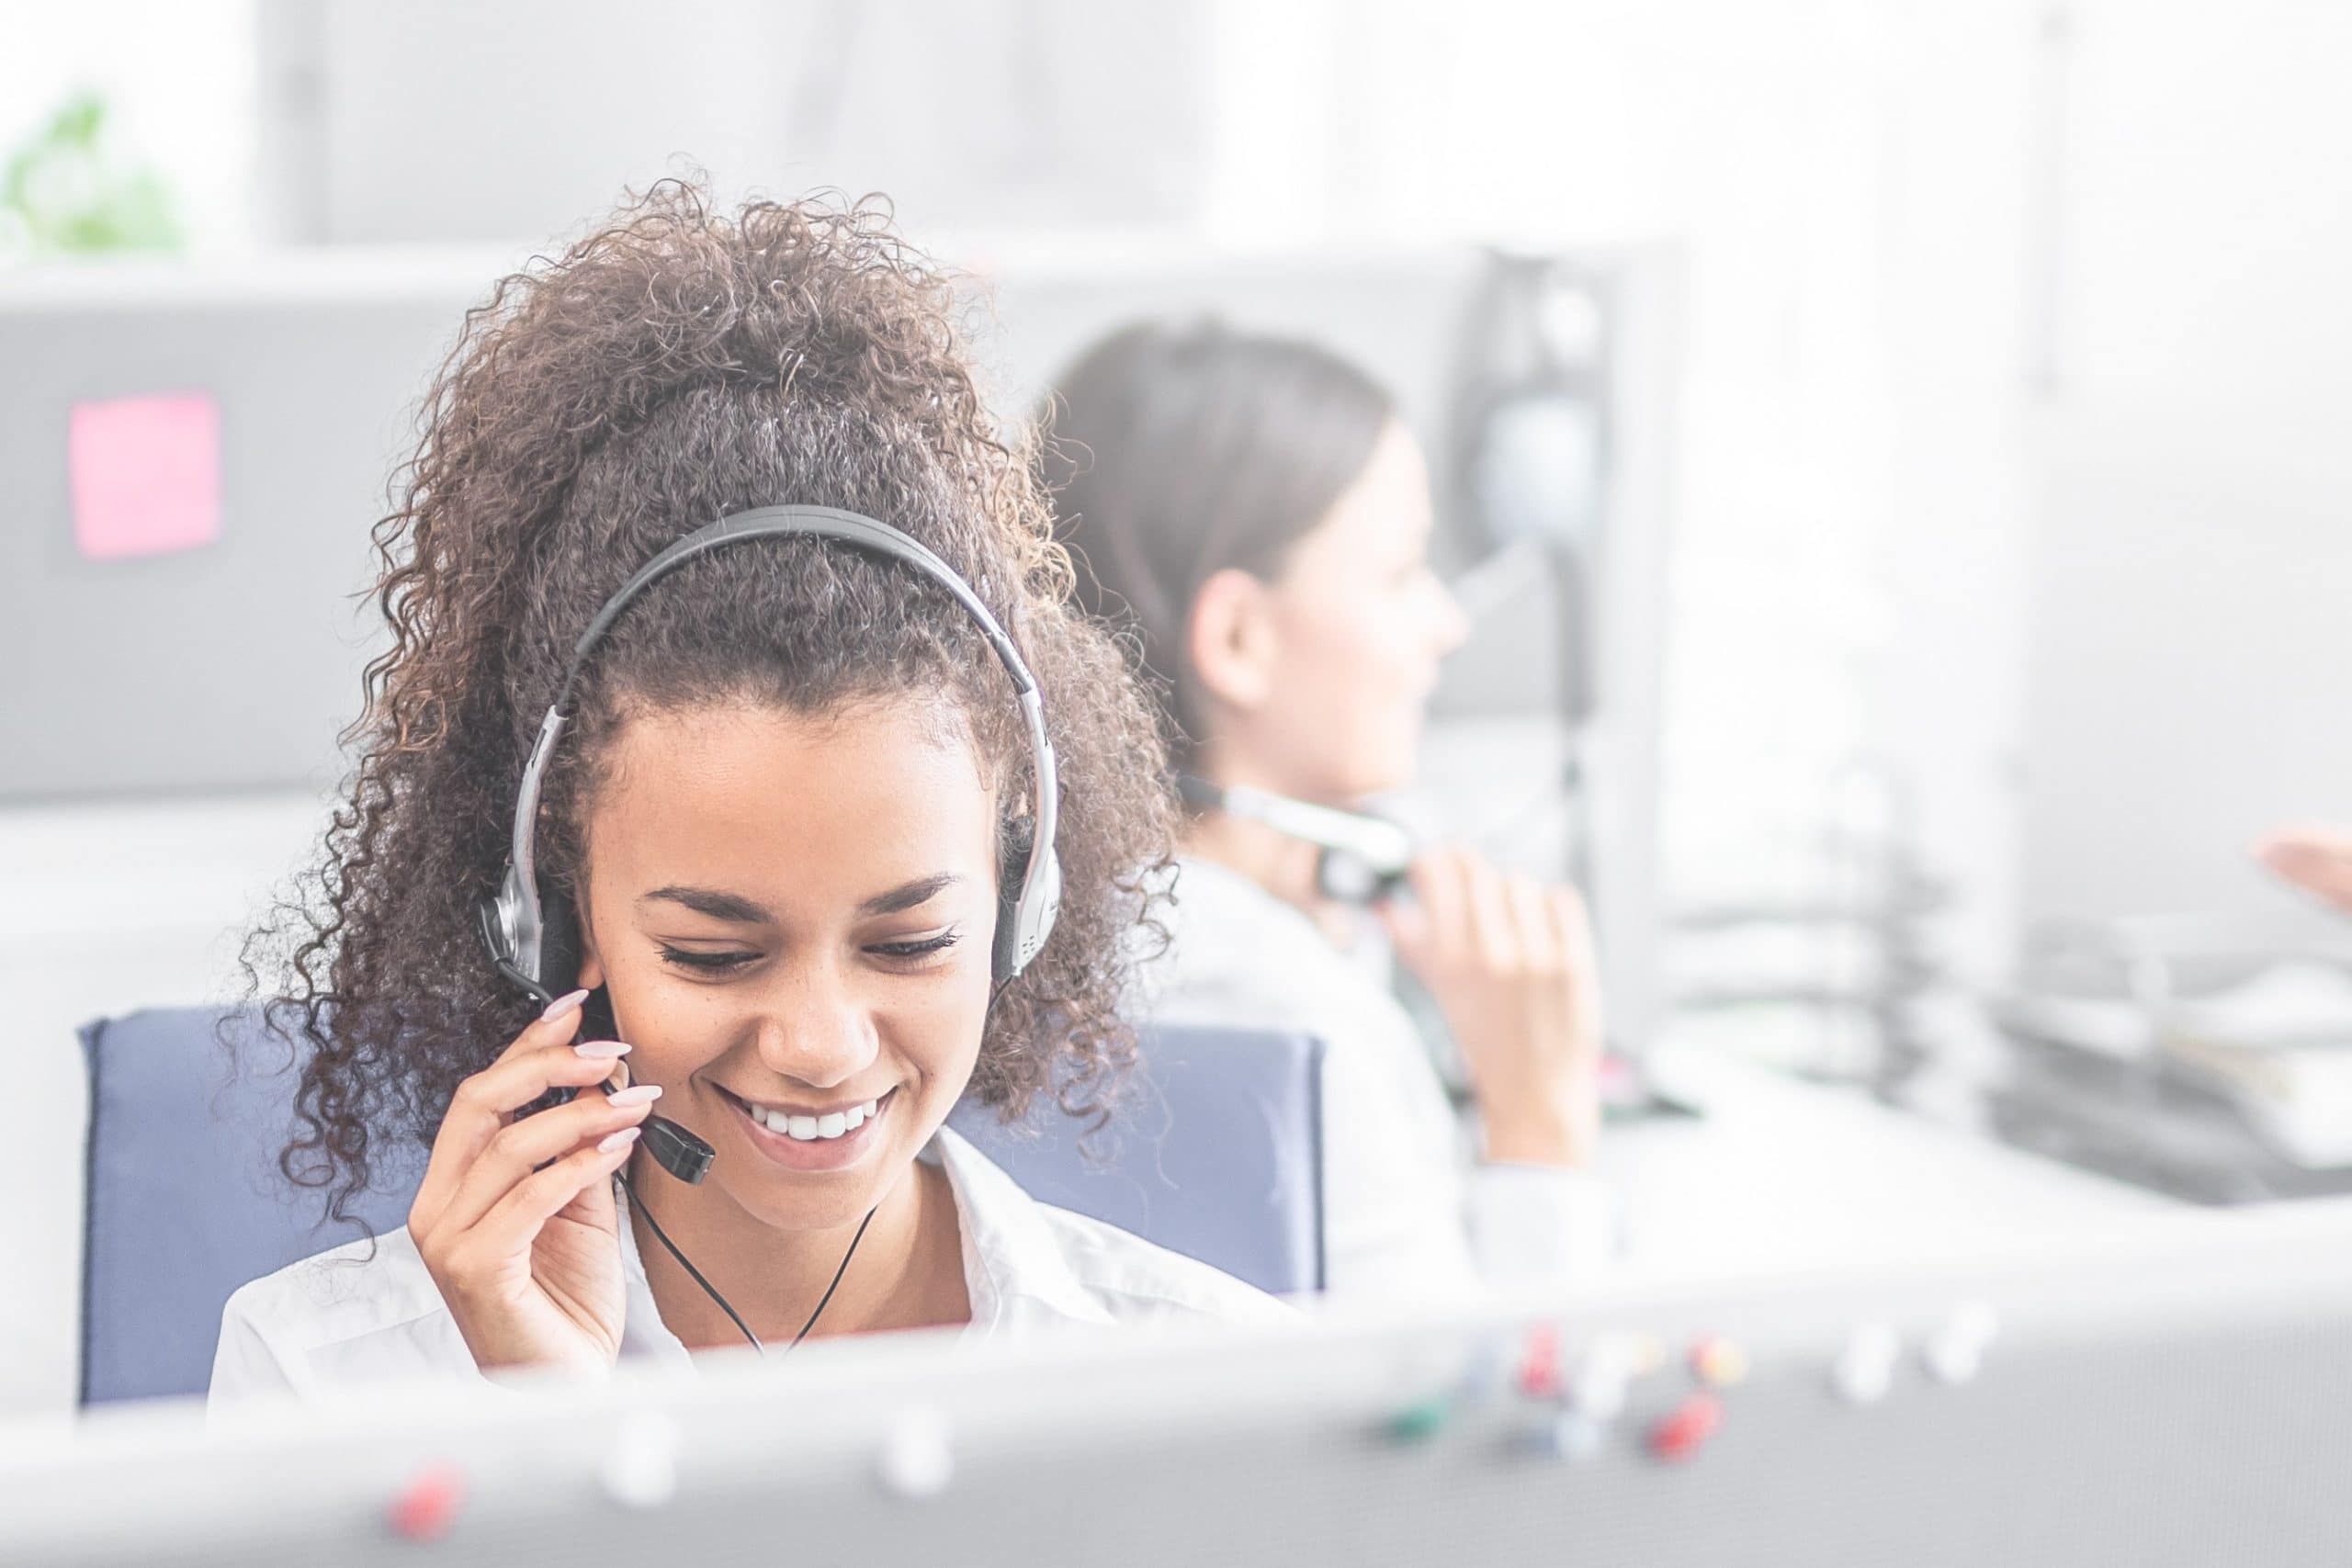
{"label": "white blouse worn by the smiling curly-haired woman", "polygon": [[[1275,1321],[1294,1312],[1204,1262],[1124,1229],[1040,1204],[950,1128],[922,1159],[948,1173],[964,1239],[967,1333],[1129,1321]],[[626,1220],[626,1208],[623,1208]],[[621,1225],[628,1314],[621,1354],[684,1366],[687,1347],[661,1321],[635,1229]],[[254,1396],[334,1396],[386,1380],[480,1378],[407,1227],[350,1241],[242,1286],[221,1312],[212,1403]]]}

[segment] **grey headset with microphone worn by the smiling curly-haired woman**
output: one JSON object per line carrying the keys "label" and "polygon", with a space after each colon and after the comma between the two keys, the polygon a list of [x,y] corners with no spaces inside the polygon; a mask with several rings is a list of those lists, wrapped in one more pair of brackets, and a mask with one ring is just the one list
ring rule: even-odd
{"label": "grey headset with microphone worn by the smiling curly-haired woman", "polygon": [[[499,891],[480,903],[482,943],[489,947],[489,961],[499,966],[499,973],[541,1001],[555,1001],[555,997],[574,990],[579,983],[579,910],[572,905],[569,893],[560,889],[543,889],[539,884],[536,856],[539,790],[546,780],[548,759],[555,755],[555,743],[562,741],[564,729],[572,724],[572,715],[567,712],[572,689],[579,684],[581,670],[586,668],[597,642],[604,639],[614,621],[619,621],[647,588],[699,555],[755,538],[818,538],[851,550],[866,550],[920,571],[946,588],[955,602],[964,607],[988,637],[988,646],[995,649],[1004,672],[1011,677],[1014,701],[1021,705],[1021,719],[1030,743],[1035,830],[1030,832],[1030,842],[1021,856],[1023,865],[1018,867],[1018,884],[1014,879],[1014,867],[1007,867],[1002,879],[997,933],[990,950],[990,973],[995,987],[1002,992],[1007,983],[1028,969],[1030,959],[1037,957],[1037,950],[1044,947],[1047,936],[1054,931],[1054,917],[1061,912],[1061,860],[1054,853],[1061,783],[1054,769],[1054,741],[1047,736],[1044,726],[1044,698],[1037,691],[1037,679],[1021,661],[1021,651],[1014,646],[1014,639],[1004,635],[1004,628],[997,625],[997,618],[981,602],[981,595],[976,595],[948,562],[887,522],[875,522],[873,517],[844,512],[830,505],[764,505],[750,512],[734,512],[694,529],[640,567],[633,578],[621,583],[621,590],[604,602],[604,609],[600,609],[588,623],[588,630],[581,632],[581,639],[572,646],[572,663],[564,665],[564,679],[555,689],[555,701],[548,705],[548,717],[539,724],[539,741],[532,745],[532,757],[522,769],[522,785],[515,790],[515,825],[506,875],[499,879]],[[708,1143],[666,1117],[644,1119],[642,1147],[654,1157],[654,1164],[689,1185],[701,1182],[710,1173],[710,1161],[715,1159],[715,1150]],[[680,1258],[680,1262],[684,1262],[684,1258]],[[849,1260],[844,1258],[842,1267],[847,1267],[847,1262]],[[687,1267],[691,1272],[691,1265]],[[696,1281],[701,1281],[699,1274]],[[835,1284],[840,1281],[835,1279]],[[708,1291],[710,1286],[703,1281],[703,1288]],[[720,1305],[724,1307],[724,1300]],[[731,1309],[729,1316],[734,1316]],[[741,1319],[736,1319],[736,1326],[741,1326]],[[746,1335],[750,1331],[746,1328]]]}

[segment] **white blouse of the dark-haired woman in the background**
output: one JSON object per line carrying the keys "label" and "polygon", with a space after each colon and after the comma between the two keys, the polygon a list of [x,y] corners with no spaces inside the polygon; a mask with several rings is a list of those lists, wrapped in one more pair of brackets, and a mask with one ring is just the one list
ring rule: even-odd
{"label": "white blouse of the dark-haired woman in the background", "polygon": [[1176,870],[1169,950],[1145,964],[1155,1023],[1324,1041],[1324,1274],[1336,1295],[1458,1293],[1592,1279],[1613,1251],[1585,1171],[1479,1161],[1385,976],[1298,907],[1214,860]]}

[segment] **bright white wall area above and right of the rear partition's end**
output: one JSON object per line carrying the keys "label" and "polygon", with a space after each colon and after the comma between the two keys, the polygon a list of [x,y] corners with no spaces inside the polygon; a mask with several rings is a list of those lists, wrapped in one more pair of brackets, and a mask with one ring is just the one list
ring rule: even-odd
{"label": "bright white wall area above and right of the rear partition's end", "polygon": [[[1228,7],[1247,12],[1247,7]],[[1973,978],[2016,940],[2034,7],[1571,0],[1352,9],[1225,78],[1277,141],[1221,223],[1689,259],[1672,508],[1665,856],[1691,903],[1773,886],[1853,759],[1900,776]],[[1232,49],[1282,47],[1228,19]],[[1221,143],[1223,146],[1223,143]],[[1221,165],[1223,167],[1223,165]],[[1268,169],[1289,167],[1289,186]],[[1249,207],[1235,190],[1254,190]],[[1331,190],[1317,205],[1317,190]]]}

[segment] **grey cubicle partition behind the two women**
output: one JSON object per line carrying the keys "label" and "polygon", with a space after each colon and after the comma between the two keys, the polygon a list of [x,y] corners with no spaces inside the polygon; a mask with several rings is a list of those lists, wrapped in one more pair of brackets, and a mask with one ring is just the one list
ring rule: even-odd
{"label": "grey cubicle partition behind the two women", "polygon": [[[1444,473],[1477,252],[946,249],[971,270],[974,336],[1007,414],[1025,411],[1108,327],[1214,313],[1364,362],[1397,390]],[[358,597],[372,578],[369,527],[466,306],[515,256],[308,252],[226,270],[0,277],[0,806],[315,790],[339,776],[336,731],[358,712],[381,621]],[[1611,538],[1595,592],[1609,733],[1604,766],[1590,773],[1590,865],[1611,1011],[1642,1039],[1653,1016],[1675,268],[1663,254],[1578,261],[1611,277],[1625,308]],[[158,393],[209,393],[219,404],[219,541],[85,559],[68,494],[71,411]],[[1522,595],[1482,616],[1439,691],[1439,745],[1449,717],[1458,731],[1503,722],[1505,752],[1531,755],[1550,712],[1550,614],[1541,595]],[[1446,804],[1444,818],[1477,820],[1486,802]]]}

